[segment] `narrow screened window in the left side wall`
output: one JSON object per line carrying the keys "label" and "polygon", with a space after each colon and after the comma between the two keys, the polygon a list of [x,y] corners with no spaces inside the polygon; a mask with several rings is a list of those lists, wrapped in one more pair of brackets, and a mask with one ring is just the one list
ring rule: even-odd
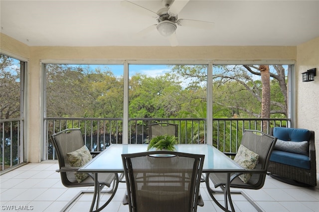
{"label": "narrow screened window in the left side wall", "polygon": [[25,62],[0,54],[0,170],[24,161]]}

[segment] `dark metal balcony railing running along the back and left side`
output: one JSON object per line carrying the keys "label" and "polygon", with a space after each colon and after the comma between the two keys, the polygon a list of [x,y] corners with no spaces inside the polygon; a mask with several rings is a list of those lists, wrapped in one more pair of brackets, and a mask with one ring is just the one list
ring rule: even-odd
{"label": "dark metal balcony railing running along the back and left side", "polygon": [[[245,129],[268,133],[271,127],[289,127],[291,120],[213,119],[213,128],[208,131],[206,119],[129,119],[128,142],[144,143],[149,136],[149,124],[159,122],[178,125],[179,143],[206,143],[207,132],[212,132],[214,146],[224,152],[237,152]],[[0,171],[24,162],[23,124],[23,119],[0,120]],[[45,118],[43,127],[44,160],[57,159],[50,135],[67,128],[80,128],[85,144],[92,151],[102,151],[111,143],[123,142],[122,118]]]}

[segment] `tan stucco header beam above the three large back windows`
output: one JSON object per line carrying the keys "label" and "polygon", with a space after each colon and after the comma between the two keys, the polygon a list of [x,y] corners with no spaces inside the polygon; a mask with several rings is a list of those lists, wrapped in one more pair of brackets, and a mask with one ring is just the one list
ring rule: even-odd
{"label": "tan stucco header beam above the three large back windows", "polygon": [[296,60],[296,47],[31,47],[32,58],[110,60]]}

